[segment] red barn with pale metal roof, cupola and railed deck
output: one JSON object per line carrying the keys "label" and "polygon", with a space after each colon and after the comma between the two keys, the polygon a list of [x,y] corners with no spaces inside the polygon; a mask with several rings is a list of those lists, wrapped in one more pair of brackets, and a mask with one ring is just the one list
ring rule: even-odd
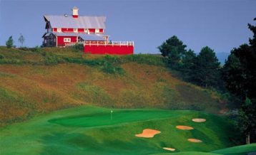
{"label": "red barn with pale metal roof, cupola and railed deck", "polygon": [[77,7],[72,9],[72,16],[44,16],[46,30],[44,47],[67,47],[82,43],[84,53],[118,54],[134,53],[133,41],[109,41],[104,34],[104,16],[79,16]]}

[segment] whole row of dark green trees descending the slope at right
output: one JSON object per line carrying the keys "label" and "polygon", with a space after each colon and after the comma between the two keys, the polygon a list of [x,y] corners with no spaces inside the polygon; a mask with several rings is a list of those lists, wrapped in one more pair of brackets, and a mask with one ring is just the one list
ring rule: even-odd
{"label": "whole row of dark green trees descending the slope at right", "polygon": [[158,47],[169,68],[178,70],[184,80],[230,93],[230,102],[237,108],[237,128],[247,144],[256,141],[256,26],[248,23],[248,28],[253,33],[249,44],[232,49],[223,66],[210,47],[203,47],[196,55],[194,50],[186,50],[177,36]]}

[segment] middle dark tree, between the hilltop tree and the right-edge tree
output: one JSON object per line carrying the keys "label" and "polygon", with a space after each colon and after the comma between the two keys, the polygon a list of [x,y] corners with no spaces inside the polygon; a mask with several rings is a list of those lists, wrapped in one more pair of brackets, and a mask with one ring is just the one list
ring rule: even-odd
{"label": "middle dark tree, between the hilltop tree and the right-edge tree", "polygon": [[192,66],[190,80],[203,87],[215,87],[220,79],[220,62],[214,50],[202,48]]}

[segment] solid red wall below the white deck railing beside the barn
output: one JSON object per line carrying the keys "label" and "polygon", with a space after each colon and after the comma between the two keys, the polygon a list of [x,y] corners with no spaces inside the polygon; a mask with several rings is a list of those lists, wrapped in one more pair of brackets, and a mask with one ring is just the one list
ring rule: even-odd
{"label": "solid red wall below the white deck railing beside the barn", "polygon": [[84,46],[84,53],[92,54],[129,55],[133,54],[133,50],[133,46]]}

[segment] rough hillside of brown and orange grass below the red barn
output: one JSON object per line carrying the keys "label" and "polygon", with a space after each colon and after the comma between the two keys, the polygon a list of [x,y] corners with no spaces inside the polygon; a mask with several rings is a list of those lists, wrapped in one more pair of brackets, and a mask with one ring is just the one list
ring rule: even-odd
{"label": "rough hillside of brown and orange grass below the red barn", "polygon": [[179,78],[159,55],[85,55],[70,48],[0,47],[0,125],[78,105],[225,108],[217,92]]}

